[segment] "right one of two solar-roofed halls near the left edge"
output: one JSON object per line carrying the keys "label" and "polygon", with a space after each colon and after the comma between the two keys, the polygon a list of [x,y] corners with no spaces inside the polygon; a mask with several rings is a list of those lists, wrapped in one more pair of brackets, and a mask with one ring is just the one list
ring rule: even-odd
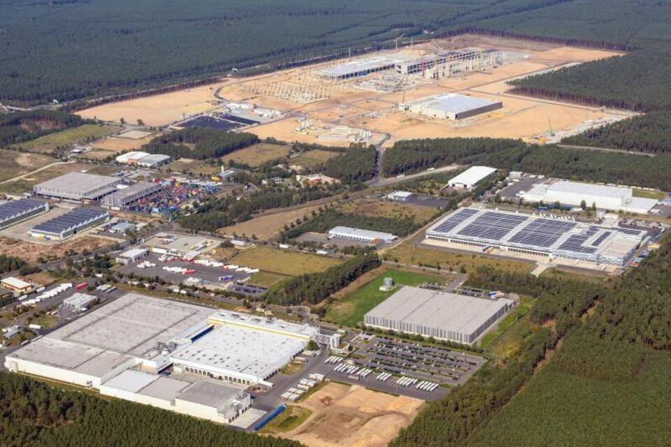
{"label": "right one of two solar-roofed halls near the left edge", "polygon": [[102,208],[75,208],[59,217],[38,223],[30,229],[30,235],[43,240],[64,240],[109,219],[110,213]]}

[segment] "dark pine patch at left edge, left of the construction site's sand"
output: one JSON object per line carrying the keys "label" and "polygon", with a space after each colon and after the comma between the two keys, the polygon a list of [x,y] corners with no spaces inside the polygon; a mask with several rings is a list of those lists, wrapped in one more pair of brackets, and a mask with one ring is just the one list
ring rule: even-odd
{"label": "dark pine patch at left edge, left of the construction site's sand", "polygon": [[34,140],[55,131],[92,122],[57,110],[30,110],[0,114],[0,147]]}

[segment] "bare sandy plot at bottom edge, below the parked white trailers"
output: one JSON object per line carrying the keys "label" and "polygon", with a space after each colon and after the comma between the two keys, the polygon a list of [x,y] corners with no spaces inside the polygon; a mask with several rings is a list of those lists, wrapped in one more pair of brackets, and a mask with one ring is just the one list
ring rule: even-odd
{"label": "bare sandy plot at bottom edge, below the parked white trailers", "polygon": [[328,383],[298,404],[312,415],[281,436],[309,447],[383,447],[412,423],[422,404],[412,397]]}

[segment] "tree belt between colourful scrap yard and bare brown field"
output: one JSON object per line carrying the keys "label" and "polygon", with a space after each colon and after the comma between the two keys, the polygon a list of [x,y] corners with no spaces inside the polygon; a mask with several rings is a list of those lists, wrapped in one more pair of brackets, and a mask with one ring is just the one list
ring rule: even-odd
{"label": "tree belt between colourful scrap yard and bare brown field", "polygon": [[341,192],[342,186],[328,188],[310,186],[302,189],[264,189],[251,196],[237,200],[235,196],[225,196],[196,204],[196,213],[180,217],[180,226],[189,230],[215,231],[223,226],[233,225],[252,219],[252,214],[272,208],[289,207],[330,197]]}

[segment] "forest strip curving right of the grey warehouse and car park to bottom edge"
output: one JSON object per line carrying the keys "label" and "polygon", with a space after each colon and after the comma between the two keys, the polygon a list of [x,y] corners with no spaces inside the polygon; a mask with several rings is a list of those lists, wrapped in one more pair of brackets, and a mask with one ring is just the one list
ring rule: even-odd
{"label": "forest strip curving right of the grey warehouse and car park to bottom edge", "polygon": [[586,309],[605,293],[602,286],[575,279],[556,280],[489,269],[478,270],[467,284],[486,288],[500,286],[506,291],[535,296],[534,307],[547,309],[556,324],[541,325],[547,322],[546,312],[532,314],[535,330],[524,339],[517,356],[503,364],[488,365],[443,400],[428,404],[412,425],[401,430],[391,447],[465,445],[472,434],[513,399],[533,377],[538,362],[556,347],[563,335],[579,324]]}

